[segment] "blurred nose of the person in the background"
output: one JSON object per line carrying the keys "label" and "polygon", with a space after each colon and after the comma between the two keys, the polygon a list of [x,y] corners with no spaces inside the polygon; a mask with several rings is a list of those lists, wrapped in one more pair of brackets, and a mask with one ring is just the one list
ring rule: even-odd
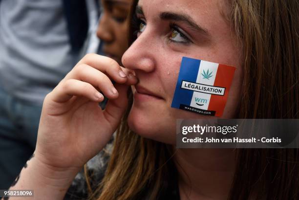
{"label": "blurred nose of the person in the background", "polygon": [[109,20],[105,13],[101,15],[97,29],[97,36],[106,43],[111,43],[113,41],[113,31],[109,26]]}

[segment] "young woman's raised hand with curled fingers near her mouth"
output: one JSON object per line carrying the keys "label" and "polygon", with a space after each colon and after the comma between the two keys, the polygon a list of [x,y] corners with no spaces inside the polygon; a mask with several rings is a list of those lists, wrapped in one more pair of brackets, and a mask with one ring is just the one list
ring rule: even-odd
{"label": "young woman's raised hand with curled fingers near her mouth", "polygon": [[[116,82],[113,86],[111,80]],[[53,169],[80,168],[107,144],[127,108],[133,71],[86,55],[44,99],[35,156]],[[105,111],[98,103],[109,99]]]}

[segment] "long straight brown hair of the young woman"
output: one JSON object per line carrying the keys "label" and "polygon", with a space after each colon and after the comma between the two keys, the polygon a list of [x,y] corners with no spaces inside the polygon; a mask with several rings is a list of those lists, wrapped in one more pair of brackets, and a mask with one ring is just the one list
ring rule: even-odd
{"label": "long straight brown hair of the young woman", "polygon": [[[242,41],[244,60],[236,117],[299,118],[298,1],[231,0],[230,4],[230,21]],[[157,200],[176,179],[171,159],[175,152],[132,133],[128,111],[117,131],[105,177],[94,193],[97,200],[137,200],[145,194]],[[298,149],[236,149],[228,199],[299,199],[298,158]]]}

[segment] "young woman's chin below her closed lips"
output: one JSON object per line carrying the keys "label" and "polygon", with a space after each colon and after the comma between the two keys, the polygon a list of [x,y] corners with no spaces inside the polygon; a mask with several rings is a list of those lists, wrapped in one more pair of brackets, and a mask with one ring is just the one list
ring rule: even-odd
{"label": "young woman's chin below her closed lips", "polygon": [[175,124],[167,125],[165,118],[158,113],[154,116],[149,116],[145,112],[139,111],[138,109],[132,108],[128,115],[128,126],[129,128],[139,134],[142,137],[149,138],[155,141],[175,144]]}

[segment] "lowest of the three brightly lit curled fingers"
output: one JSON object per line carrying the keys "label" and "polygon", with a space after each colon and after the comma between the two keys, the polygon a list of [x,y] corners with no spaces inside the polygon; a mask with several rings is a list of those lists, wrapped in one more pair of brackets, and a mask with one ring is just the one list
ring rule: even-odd
{"label": "lowest of the three brightly lit curled fingers", "polygon": [[95,102],[104,100],[103,94],[96,90],[91,84],[76,79],[68,79],[61,82],[53,89],[49,98],[54,102],[63,103],[73,96],[84,96]]}

